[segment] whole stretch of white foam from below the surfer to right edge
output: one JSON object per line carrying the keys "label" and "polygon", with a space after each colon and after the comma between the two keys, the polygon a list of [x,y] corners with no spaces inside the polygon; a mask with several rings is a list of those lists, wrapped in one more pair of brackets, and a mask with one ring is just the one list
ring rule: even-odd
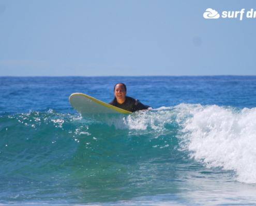
{"label": "whole stretch of white foam from below the surfer to right edge", "polygon": [[156,136],[176,130],[191,158],[207,167],[233,170],[237,181],[256,183],[255,117],[256,108],[180,104],[114,118],[111,124],[134,132],[154,131]]}

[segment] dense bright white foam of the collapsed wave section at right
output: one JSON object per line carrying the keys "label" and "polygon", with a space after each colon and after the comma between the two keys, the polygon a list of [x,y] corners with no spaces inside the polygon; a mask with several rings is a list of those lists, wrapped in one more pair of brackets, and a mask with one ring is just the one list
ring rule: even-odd
{"label": "dense bright white foam of the collapsed wave section at right", "polygon": [[[256,108],[179,105],[184,148],[208,167],[234,170],[237,180],[256,183]],[[187,116],[187,117],[186,117]]]}

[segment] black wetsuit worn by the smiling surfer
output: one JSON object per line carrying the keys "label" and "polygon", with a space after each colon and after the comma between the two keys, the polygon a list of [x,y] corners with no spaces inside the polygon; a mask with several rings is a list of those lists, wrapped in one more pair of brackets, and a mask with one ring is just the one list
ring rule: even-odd
{"label": "black wetsuit worn by the smiling surfer", "polygon": [[116,100],[116,97],[111,102],[109,102],[109,104],[130,112],[145,110],[149,108],[149,106],[143,105],[138,99],[134,99],[128,96],[125,97],[125,102],[123,104],[119,104]]}

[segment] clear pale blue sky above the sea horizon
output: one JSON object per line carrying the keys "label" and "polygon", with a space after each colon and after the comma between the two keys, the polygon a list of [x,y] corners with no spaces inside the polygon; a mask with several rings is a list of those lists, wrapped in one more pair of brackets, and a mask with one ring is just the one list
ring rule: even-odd
{"label": "clear pale blue sky above the sea horizon", "polygon": [[255,50],[255,0],[0,0],[0,76],[256,75]]}

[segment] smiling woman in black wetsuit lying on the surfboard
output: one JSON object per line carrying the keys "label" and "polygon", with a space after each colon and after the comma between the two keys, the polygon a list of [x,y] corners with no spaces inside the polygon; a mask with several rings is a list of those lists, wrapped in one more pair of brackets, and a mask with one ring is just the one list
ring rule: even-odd
{"label": "smiling woman in black wetsuit lying on the surfboard", "polygon": [[126,85],[124,83],[117,83],[114,87],[114,99],[109,102],[115,107],[135,112],[138,110],[148,109],[149,106],[143,105],[138,99],[126,96]]}

